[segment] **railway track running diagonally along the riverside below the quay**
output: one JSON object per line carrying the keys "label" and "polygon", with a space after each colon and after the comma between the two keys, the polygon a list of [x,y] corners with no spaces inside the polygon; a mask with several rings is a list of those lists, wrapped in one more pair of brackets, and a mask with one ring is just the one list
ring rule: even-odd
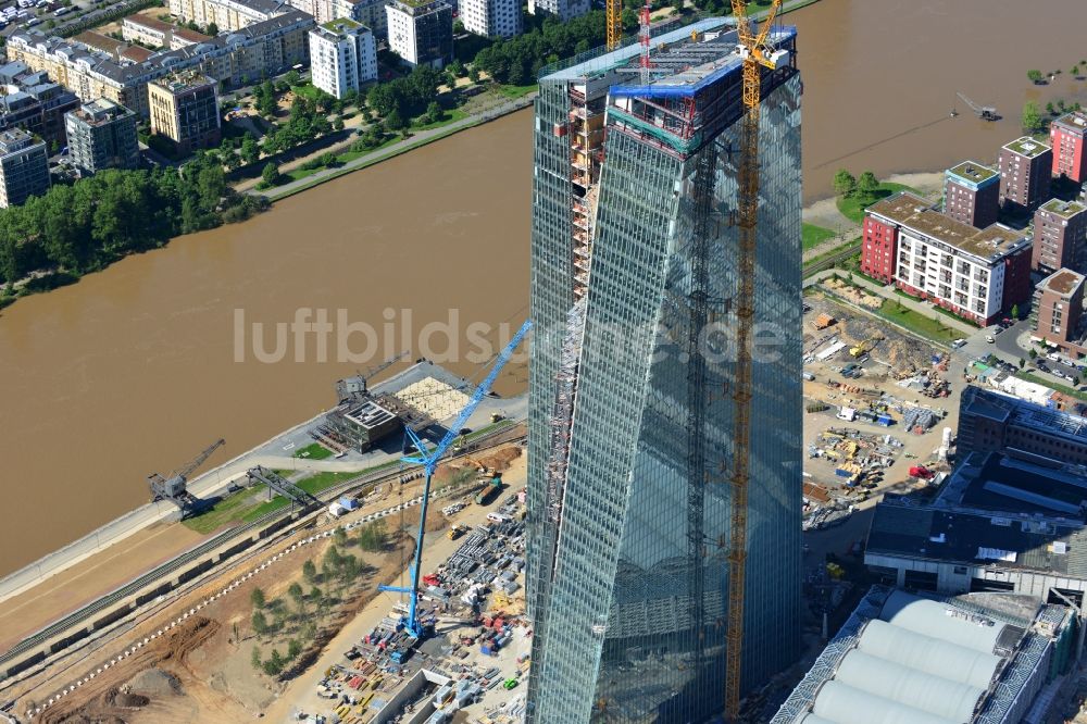
{"label": "railway track running diagonally along the riverside below the quay", "polygon": [[[480,437],[478,440],[474,441],[472,445],[466,446],[466,448],[462,452],[458,453],[457,455],[449,457],[446,460],[446,462],[455,460],[457,458],[466,454],[476,454],[482,450],[496,448],[502,445],[508,445],[510,442],[524,439],[526,436],[524,433],[520,432],[518,427],[520,425],[513,424],[502,429],[495,430],[491,434],[485,435]],[[359,475],[358,477],[345,480],[343,483],[335,485],[330,488],[326,488],[316,496],[322,504],[314,503],[303,509],[301,511],[301,516],[299,517],[298,523],[302,523],[304,521],[308,521],[310,517],[315,516],[320,511],[325,510],[324,503],[328,503],[329,501],[336,500],[337,498],[339,498],[345,492],[348,492],[349,490],[371,484],[377,484],[397,479],[399,477],[404,476],[405,474],[411,474],[416,469],[418,469],[417,465],[404,469],[395,469],[391,472],[387,470],[375,471],[373,473],[362,474]],[[439,494],[442,494],[442,491],[436,491],[432,494],[432,496],[439,497]],[[408,507],[418,504],[421,500],[422,497],[418,497],[410,501],[402,502],[385,511],[378,511],[376,513],[372,513],[371,515],[367,515],[364,519],[360,520],[359,522],[352,524],[352,527],[355,525],[361,525],[362,523],[370,522],[377,517],[385,517],[395,512],[403,510]],[[280,510],[272,511],[254,521],[251,521],[249,523],[242,523],[233,528],[224,530],[223,533],[210,538],[209,540],[205,540],[199,546],[191,548],[190,550],[185,551],[184,553],[180,553],[179,556],[172,558],[171,560],[155,566],[154,569],[148,571],[141,576],[134,578],[127,584],[110,591],[109,594],[105,594],[104,596],[91,601],[90,603],[87,603],[86,606],[77,609],[76,611],[73,611],[66,616],[60,619],[59,621],[55,621],[46,626],[45,628],[36,632],[35,634],[24,638],[18,644],[13,646],[11,649],[0,654],[0,667],[2,667],[4,664],[11,661],[18,659],[24,653],[35,650],[36,648],[42,646],[47,641],[57,638],[61,634],[70,632],[76,628],[77,626],[85,624],[89,619],[91,619],[96,614],[102,611],[107,611],[111,607],[120,603],[121,601],[124,601],[125,599],[135,596],[140,591],[143,591],[153,584],[157,584],[161,582],[163,578],[166,578],[168,575],[177,571],[180,571],[186,565],[199,561],[201,558],[211,553],[216,548],[220,548],[223,545],[228,544],[232,540],[240,538],[247,534],[252,534],[254,530],[262,529],[263,527],[268,526],[272,523],[275,523],[282,517],[285,517],[287,515],[292,515],[295,514],[296,511],[297,509],[295,508],[293,503],[288,508],[283,508]],[[74,642],[74,640],[72,642]],[[62,645],[60,648],[51,650],[50,656],[62,651],[64,648],[67,648],[67,646]]]}

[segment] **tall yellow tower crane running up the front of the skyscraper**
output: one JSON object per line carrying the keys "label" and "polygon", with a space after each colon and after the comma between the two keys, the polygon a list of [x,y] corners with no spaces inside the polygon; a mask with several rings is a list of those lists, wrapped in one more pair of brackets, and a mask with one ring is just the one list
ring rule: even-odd
{"label": "tall yellow tower crane running up the front of the skyscraper", "polygon": [[740,128],[739,290],[737,294],[736,391],[733,429],[733,514],[728,550],[728,633],[725,661],[725,715],[736,721],[740,709],[744,653],[744,584],[747,564],[747,509],[751,450],[751,327],[754,319],[755,241],[759,220],[759,105],[762,67],[774,67],[766,45],[782,0],[773,0],[760,28],[748,17],[748,0],[732,0],[744,59],[744,113]]}

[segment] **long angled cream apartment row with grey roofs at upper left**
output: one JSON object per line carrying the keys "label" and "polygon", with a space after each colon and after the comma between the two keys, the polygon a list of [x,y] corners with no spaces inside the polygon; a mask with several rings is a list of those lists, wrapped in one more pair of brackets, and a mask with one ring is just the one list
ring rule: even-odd
{"label": "long angled cream apartment row with grey roofs at upper left", "polygon": [[227,85],[275,75],[309,59],[307,34],[312,27],[310,15],[290,10],[207,42],[155,53],[142,62],[117,63],[83,43],[36,29],[12,34],[5,52],[10,61],[49,73],[82,101],[108,98],[146,117],[150,114],[147,84],[151,80],[185,70]]}

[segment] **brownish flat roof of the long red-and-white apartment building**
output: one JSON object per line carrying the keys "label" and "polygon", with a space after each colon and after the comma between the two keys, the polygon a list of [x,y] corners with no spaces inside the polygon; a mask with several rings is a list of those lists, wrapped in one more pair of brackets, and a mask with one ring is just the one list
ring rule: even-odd
{"label": "brownish flat roof of the long red-and-white apartment building", "polygon": [[935,211],[930,203],[909,191],[899,191],[867,208],[877,214],[937,241],[975,257],[994,259],[1026,242],[1026,235],[1001,224],[977,229]]}

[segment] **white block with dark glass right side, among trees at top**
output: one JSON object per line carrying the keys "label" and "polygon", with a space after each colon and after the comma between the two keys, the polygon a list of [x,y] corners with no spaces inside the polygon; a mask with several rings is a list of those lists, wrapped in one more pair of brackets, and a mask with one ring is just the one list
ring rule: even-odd
{"label": "white block with dark glass right side, among trees at top", "polygon": [[453,59],[453,9],[446,0],[390,0],[389,50],[408,65],[441,68]]}

